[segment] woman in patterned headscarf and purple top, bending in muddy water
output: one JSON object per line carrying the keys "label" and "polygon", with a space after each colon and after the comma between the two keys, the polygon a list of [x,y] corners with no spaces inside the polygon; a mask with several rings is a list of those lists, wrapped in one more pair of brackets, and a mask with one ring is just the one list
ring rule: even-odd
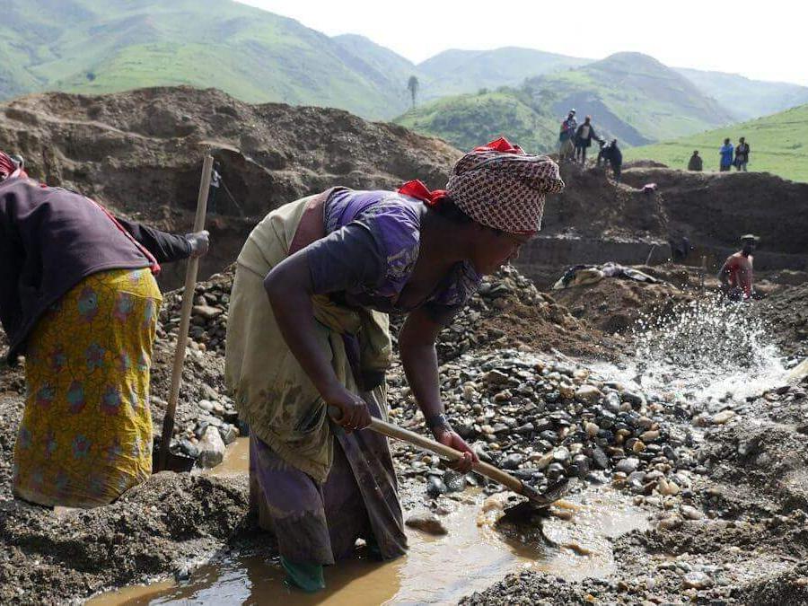
{"label": "woman in patterned headscarf and purple top, bending in muddy water", "polygon": [[[364,430],[387,418],[388,313],[404,313],[401,362],[435,439],[476,455],[444,417],[435,338],[540,228],[558,165],[499,139],[464,155],[443,191],[336,187],[272,211],[233,281],[225,376],[250,425],[250,496],[277,537],[287,583],[324,587],[356,539],[407,549],[391,453]],[[339,408],[338,423],[327,408]]]}

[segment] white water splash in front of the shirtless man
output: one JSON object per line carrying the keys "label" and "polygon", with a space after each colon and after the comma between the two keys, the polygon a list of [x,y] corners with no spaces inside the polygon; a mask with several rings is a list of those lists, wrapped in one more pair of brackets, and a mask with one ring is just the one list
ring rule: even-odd
{"label": "white water splash in front of the shirtless man", "polygon": [[646,391],[742,400],[786,379],[771,329],[747,303],[710,296],[631,329],[634,361],[621,374]]}

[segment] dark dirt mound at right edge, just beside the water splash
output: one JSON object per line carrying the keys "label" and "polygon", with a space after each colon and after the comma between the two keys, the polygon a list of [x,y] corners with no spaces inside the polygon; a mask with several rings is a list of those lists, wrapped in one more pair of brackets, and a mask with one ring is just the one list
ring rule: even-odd
{"label": "dark dirt mound at right edge, just beside the water splash", "polygon": [[808,356],[808,283],[786,288],[758,303],[777,345],[787,354]]}

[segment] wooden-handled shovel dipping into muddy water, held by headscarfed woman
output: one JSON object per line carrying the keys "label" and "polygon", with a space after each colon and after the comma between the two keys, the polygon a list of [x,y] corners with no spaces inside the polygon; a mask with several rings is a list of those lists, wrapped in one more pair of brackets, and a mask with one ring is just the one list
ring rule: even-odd
{"label": "wooden-handled shovel dipping into muddy water, held by headscarfed woman", "polygon": [[[329,416],[335,421],[338,421],[342,416],[342,411],[335,406],[329,406]],[[435,442],[435,440],[430,440],[424,435],[416,434],[415,432],[404,429],[403,427],[397,426],[394,423],[382,421],[382,419],[379,418],[371,417],[370,425],[366,426],[365,429],[370,429],[377,434],[386,435],[387,437],[395,438],[401,442],[412,444],[418,448],[423,448],[426,451],[434,452],[439,457],[442,457],[449,462],[461,461],[463,458],[463,454],[460,451],[456,451],[449,446],[444,446],[444,444]],[[564,496],[566,493],[567,479],[562,479],[549,486],[547,491],[542,495],[534,487],[531,487],[526,482],[523,482],[523,480],[515,478],[506,471],[500,470],[499,468],[489,465],[483,461],[472,463],[471,469],[479,473],[481,476],[485,476],[487,479],[493,479],[495,482],[501,484],[517,495],[525,496],[527,498],[527,501],[523,502],[522,504],[515,505],[510,510],[506,511],[506,515],[510,515],[511,511],[515,510],[516,508],[519,508],[518,513],[520,517],[522,514],[526,513],[525,510],[527,509],[530,509],[533,512],[536,510],[546,510],[549,505],[552,505],[558,501],[558,499]]]}

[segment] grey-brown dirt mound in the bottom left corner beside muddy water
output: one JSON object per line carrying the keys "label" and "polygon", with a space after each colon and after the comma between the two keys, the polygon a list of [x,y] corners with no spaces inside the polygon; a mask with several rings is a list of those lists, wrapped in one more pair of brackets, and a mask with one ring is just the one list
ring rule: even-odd
{"label": "grey-brown dirt mound in the bottom left corner beside muddy water", "polygon": [[0,602],[61,603],[206,558],[250,530],[245,477],[164,472],[116,503],[61,514],[0,504]]}

